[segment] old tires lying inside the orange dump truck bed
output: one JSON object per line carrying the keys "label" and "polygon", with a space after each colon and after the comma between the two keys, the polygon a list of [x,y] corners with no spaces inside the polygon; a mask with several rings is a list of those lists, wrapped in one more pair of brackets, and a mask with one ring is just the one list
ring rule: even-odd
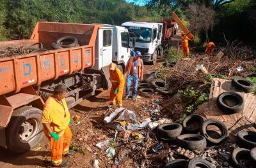
{"label": "old tires lying inside the orange dump truck bed", "polygon": [[51,45],[53,49],[70,48],[74,46],[79,46],[78,40],[74,36],[63,36],[57,39],[56,43],[52,43]]}

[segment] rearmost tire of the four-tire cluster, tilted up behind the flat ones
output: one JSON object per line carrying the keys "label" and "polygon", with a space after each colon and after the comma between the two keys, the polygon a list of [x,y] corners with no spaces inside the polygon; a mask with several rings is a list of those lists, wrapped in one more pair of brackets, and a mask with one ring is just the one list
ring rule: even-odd
{"label": "rearmost tire of the four-tire cluster, tilted up behind the flat ones", "polygon": [[[183,120],[182,126],[186,132],[198,133],[200,132],[200,127],[205,120],[206,118],[204,118],[204,116],[192,114]],[[191,127],[191,125],[193,125],[193,127]]]}

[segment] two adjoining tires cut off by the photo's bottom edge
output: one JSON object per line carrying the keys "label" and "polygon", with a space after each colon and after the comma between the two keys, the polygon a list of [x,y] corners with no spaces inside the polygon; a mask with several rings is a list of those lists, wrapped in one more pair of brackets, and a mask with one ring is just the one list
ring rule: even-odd
{"label": "two adjoining tires cut off by the photo's bottom edge", "polygon": [[184,168],[194,168],[194,167],[205,167],[213,168],[212,164],[205,160],[204,158],[196,157],[191,158],[190,160],[185,159],[175,159],[164,165],[164,168],[175,168],[175,167],[184,167]]}

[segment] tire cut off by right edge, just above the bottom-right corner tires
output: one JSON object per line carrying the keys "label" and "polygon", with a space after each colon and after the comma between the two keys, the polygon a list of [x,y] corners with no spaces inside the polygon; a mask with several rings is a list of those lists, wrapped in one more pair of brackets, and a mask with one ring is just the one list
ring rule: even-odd
{"label": "tire cut off by right edge, just above the bottom-right corner tires", "polygon": [[247,139],[244,139],[244,136],[253,136],[255,137],[256,139],[256,132],[252,132],[252,131],[239,131],[238,134],[237,134],[237,137],[240,141],[241,146],[243,146],[244,148],[248,148],[249,150],[256,147],[256,143],[255,142],[252,142],[252,141],[249,141]]}

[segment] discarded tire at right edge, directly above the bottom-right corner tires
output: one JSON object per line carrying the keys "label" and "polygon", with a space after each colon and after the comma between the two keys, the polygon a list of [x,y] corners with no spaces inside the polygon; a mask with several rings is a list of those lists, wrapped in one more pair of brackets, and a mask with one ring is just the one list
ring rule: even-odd
{"label": "discarded tire at right edge, directly above the bottom-right corner tires", "polygon": [[239,131],[238,134],[239,146],[243,148],[252,149],[256,147],[256,132],[252,131]]}

